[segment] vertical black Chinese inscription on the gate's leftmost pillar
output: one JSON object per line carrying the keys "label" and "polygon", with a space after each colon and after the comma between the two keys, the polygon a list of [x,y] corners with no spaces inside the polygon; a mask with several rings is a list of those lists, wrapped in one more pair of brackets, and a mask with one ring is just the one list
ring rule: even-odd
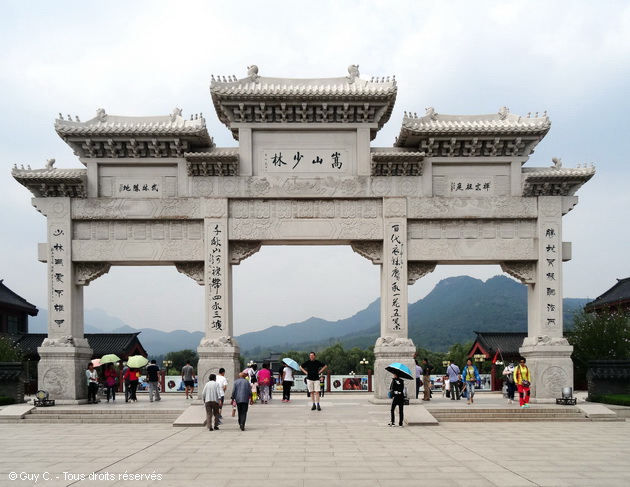
{"label": "vertical black Chinese inscription on the gate's leftmost pillar", "polygon": [[50,307],[51,323],[54,323],[56,331],[64,330],[67,327],[67,310],[65,309],[66,297],[71,281],[70,262],[66,249],[68,229],[65,224],[54,223],[50,227]]}

